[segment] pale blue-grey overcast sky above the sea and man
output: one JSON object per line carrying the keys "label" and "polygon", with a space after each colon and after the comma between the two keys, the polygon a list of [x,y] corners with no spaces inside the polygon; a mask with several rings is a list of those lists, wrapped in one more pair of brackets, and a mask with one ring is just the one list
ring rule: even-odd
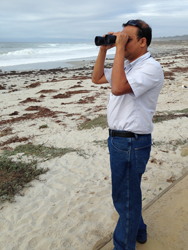
{"label": "pale blue-grey overcast sky above the sea and man", "polygon": [[94,39],[142,19],[153,37],[188,34],[188,0],[2,0],[0,41]]}

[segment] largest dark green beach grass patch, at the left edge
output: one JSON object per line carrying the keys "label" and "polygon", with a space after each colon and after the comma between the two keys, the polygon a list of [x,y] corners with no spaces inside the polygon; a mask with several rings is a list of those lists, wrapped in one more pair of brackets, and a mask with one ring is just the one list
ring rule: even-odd
{"label": "largest dark green beach grass patch, at the left edge", "polygon": [[[79,150],[73,148],[33,144],[19,145],[14,150],[5,150],[0,156],[0,203],[14,202],[15,195],[24,195],[23,189],[30,187],[32,180],[40,181],[39,176],[49,169],[39,168],[38,162],[61,157],[70,152],[80,153]],[[13,156],[17,157],[16,161],[12,159]]]}

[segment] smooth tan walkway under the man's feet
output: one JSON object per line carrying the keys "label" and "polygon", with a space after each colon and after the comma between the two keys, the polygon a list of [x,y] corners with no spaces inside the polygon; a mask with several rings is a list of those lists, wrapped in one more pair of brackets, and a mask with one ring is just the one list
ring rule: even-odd
{"label": "smooth tan walkway under the man's feet", "polygon": [[[136,250],[188,250],[188,172],[143,208],[148,240]],[[113,250],[112,233],[93,250]]]}

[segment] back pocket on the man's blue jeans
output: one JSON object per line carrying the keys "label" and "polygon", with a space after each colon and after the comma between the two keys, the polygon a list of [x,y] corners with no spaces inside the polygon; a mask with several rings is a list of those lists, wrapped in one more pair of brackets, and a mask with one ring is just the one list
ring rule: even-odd
{"label": "back pocket on the man's blue jeans", "polygon": [[146,169],[147,162],[150,157],[151,144],[135,148],[136,170],[138,173],[143,174]]}

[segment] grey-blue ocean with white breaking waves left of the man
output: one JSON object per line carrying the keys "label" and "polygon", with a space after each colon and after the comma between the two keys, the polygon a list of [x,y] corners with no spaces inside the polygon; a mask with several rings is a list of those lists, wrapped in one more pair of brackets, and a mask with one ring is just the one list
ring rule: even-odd
{"label": "grey-blue ocean with white breaking waves left of the man", "polygon": [[[96,59],[99,47],[85,43],[0,43],[0,70],[71,67],[71,61]],[[115,49],[108,51],[109,58]]]}

